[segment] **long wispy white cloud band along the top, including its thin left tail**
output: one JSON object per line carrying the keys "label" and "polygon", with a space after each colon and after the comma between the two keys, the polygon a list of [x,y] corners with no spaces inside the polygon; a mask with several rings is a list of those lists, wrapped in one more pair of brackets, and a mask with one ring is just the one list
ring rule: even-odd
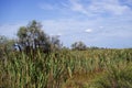
{"label": "long wispy white cloud band along the top, including its thin left tail", "polygon": [[[85,3],[85,0],[68,0],[64,2],[40,3],[38,7],[43,10],[56,10],[62,14],[70,14],[78,12],[87,16],[102,16],[103,15],[128,15],[132,14],[129,6],[122,4],[120,0],[90,0]],[[131,2],[131,0],[125,1]]]}

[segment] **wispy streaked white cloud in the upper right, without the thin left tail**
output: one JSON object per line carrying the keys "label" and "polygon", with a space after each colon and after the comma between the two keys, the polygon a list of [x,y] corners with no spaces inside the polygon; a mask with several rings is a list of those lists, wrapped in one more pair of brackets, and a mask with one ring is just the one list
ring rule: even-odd
{"label": "wispy streaked white cloud in the upper right, without the thin left tail", "polygon": [[86,15],[113,14],[122,15],[132,12],[131,9],[121,4],[119,0],[92,0],[89,4],[81,0],[69,0],[70,9]]}

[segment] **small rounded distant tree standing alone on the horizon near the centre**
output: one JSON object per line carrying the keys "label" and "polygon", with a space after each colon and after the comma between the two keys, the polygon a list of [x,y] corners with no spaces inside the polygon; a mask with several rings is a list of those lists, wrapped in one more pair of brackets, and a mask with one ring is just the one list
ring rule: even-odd
{"label": "small rounded distant tree standing alone on the horizon near the centre", "polygon": [[85,51],[87,46],[81,41],[79,41],[79,42],[75,42],[74,44],[72,44],[72,48],[78,50],[78,51]]}

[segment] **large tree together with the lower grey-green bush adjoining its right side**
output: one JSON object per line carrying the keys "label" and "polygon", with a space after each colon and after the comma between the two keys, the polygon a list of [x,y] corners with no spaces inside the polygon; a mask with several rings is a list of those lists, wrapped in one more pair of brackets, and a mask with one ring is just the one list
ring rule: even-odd
{"label": "large tree together with the lower grey-green bush adjoining its right side", "polygon": [[26,26],[21,26],[18,31],[19,42],[16,43],[20,51],[25,53],[32,50],[42,50],[48,53],[62,47],[58,36],[48,36],[43,30],[40,22],[33,20]]}

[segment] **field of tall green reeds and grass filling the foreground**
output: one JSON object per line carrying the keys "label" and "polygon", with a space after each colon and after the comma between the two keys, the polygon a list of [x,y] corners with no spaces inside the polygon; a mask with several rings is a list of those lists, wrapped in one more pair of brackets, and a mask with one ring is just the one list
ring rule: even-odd
{"label": "field of tall green reeds and grass filling the foreground", "polygon": [[0,88],[132,88],[132,50],[3,53]]}

